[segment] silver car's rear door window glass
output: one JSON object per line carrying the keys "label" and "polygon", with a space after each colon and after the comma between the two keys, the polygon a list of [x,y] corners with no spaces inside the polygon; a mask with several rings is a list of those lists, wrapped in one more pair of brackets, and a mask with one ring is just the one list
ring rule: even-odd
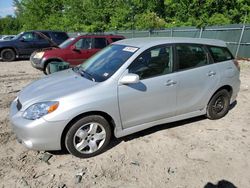
{"label": "silver car's rear door window glass", "polygon": [[201,45],[177,44],[178,70],[185,70],[209,64],[208,54]]}

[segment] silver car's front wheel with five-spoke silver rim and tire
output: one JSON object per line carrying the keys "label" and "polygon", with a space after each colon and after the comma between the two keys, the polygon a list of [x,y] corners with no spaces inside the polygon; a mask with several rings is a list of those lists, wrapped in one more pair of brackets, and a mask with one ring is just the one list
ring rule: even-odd
{"label": "silver car's front wheel with five-spoke silver rim and tire", "polygon": [[[95,126],[97,127],[93,128]],[[70,127],[66,133],[65,146],[72,155],[88,158],[103,152],[110,138],[108,121],[102,116],[91,115],[81,118]]]}

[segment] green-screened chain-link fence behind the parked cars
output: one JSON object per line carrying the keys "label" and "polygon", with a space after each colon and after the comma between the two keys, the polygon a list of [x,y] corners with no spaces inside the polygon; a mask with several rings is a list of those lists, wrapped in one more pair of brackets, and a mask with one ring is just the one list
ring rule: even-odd
{"label": "green-screened chain-link fence behind the parked cars", "polygon": [[[84,33],[81,33],[84,34]],[[227,43],[235,57],[250,58],[250,25],[211,26],[202,29],[195,27],[177,27],[165,30],[149,31],[113,31],[105,34],[118,34],[126,38],[137,37],[192,37],[220,39]],[[76,33],[70,33],[76,35]]]}

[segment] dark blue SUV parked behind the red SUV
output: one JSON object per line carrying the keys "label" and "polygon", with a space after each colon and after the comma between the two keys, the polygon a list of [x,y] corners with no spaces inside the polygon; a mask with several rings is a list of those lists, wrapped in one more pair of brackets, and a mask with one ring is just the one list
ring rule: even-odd
{"label": "dark blue SUV parked behind the red SUV", "polygon": [[22,32],[12,40],[0,41],[0,58],[3,61],[29,58],[35,50],[59,45],[68,38],[67,33],[61,31]]}

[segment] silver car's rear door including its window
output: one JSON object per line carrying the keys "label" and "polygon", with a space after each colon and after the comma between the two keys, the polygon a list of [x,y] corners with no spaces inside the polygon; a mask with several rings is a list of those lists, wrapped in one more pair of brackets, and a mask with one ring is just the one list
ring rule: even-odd
{"label": "silver car's rear door including its window", "polygon": [[204,109],[219,82],[217,66],[203,45],[176,44],[177,115]]}

